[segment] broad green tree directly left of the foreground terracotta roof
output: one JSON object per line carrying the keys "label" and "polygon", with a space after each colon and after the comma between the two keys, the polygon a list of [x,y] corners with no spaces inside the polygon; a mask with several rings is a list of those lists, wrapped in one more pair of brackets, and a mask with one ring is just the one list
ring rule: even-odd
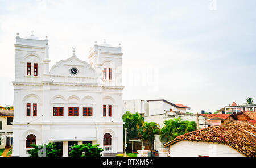
{"label": "broad green tree directly left of the foreground terracotta roof", "polygon": [[196,123],[194,121],[181,121],[180,117],[166,120],[164,121],[164,127],[160,131],[160,140],[162,142],[169,142],[174,140],[177,136],[195,130]]}

